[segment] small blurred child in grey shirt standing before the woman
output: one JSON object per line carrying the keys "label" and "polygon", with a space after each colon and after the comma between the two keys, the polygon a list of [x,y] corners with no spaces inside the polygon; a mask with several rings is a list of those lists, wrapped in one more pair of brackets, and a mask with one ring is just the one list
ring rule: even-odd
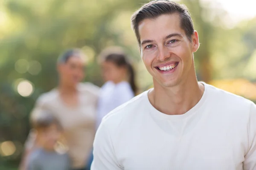
{"label": "small blurred child in grey shirt standing before the woman", "polygon": [[52,114],[40,111],[32,125],[37,132],[37,146],[28,158],[28,170],[70,170],[67,153],[55,150],[62,131],[58,120]]}

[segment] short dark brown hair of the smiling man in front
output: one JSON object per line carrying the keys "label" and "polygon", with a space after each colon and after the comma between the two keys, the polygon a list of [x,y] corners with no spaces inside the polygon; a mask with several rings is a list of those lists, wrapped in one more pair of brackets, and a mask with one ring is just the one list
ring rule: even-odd
{"label": "short dark brown hair of the smiling man in front", "polygon": [[139,10],[134,12],[131,17],[131,25],[140,45],[140,34],[138,26],[141,21],[148,18],[157,18],[163,14],[178,13],[180,15],[180,27],[186,32],[186,36],[191,41],[191,36],[194,34],[194,26],[188,8],[179,3],[170,0],[153,0],[143,5]]}

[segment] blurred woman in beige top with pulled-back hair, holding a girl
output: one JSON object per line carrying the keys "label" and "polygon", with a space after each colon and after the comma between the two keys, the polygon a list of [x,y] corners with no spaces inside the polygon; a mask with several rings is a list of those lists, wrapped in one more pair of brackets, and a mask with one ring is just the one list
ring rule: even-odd
{"label": "blurred woman in beige top with pulled-back hair, holding a girl", "polygon": [[[33,113],[46,109],[54,113],[64,128],[64,138],[74,170],[85,170],[93,145],[96,121],[96,103],[99,88],[91,83],[80,83],[84,78],[84,54],[71,49],[62,54],[57,63],[58,87],[41,95]],[[29,146],[29,143],[30,144]],[[36,145],[28,139],[27,150]],[[28,154],[29,156],[29,154]],[[26,159],[24,160],[26,162]]]}

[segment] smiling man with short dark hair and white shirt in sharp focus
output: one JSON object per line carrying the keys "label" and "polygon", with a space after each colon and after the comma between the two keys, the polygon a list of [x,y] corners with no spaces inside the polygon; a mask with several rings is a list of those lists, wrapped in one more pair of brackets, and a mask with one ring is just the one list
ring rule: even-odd
{"label": "smiling man with short dark hair and white shirt in sharp focus", "polygon": [[151,1],[131,20],[154,89],[104,118],[92,170],[256,170],[256,105],[197,81],[186,7]]}

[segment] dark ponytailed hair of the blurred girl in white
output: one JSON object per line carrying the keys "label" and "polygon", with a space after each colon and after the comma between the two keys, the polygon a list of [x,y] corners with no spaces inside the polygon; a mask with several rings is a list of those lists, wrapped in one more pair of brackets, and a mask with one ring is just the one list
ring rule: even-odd
{"label": "dark ponytailed hair of the blurred girl in white", "polygon": [[112,62],[113,64],[117,65],[118,67],[126,67],[129,73],[129,83],[131,88],[136,94],[137,86],[135,83],[135,71],[131,62],[128,60],[127,55],[120,47],[111,47],[105,49],[102,54],[100,55],[101,62]]}

